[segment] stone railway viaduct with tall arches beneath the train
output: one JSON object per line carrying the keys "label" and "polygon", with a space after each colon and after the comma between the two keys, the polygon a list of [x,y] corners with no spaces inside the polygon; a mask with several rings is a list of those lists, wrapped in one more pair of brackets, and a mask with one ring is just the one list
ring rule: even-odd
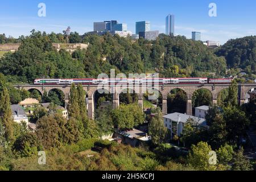
{"label": "stone railway viaduct with tall arches beneath the train", "polygon": [[[199,89],[207,89],[212,93],[213,104],[217,104],[217,97],[220,94],[221,90],[229,88],[229,84],[219,84],[219,85],[163,85],[159,86],[158,91],[162,94],[163,97],[163,113],[167,113],[167,96],[173,89],[181,89],[187,94],[187,114],[192,115],[192,96],[196,90]],[[24,90],[31,90],[36,89],[38,90],[42,96],[44,92],[49,92],[52,89],[59,89],[65,94],[65,106],[67,106],[69,100],[69,92],[71,89],[70,85],[14,85],[16,89],[24,89]],[[140,91],[146,90],[146,86],[139,86]],[[240,105],[245,103],[246,100],[246,93],[249,92],[251,89],[256,88],[255,84],[238,84],[238,100]],[[86,96],[88,97],[88,117],[94,118],[94,109],[95,109],[95,101],[94,101],[94,94],[97,92],[98,86],[91,85],[91,86],[84,86],[84,90],[86,92]],[[119,94],[122,93],[122,87],[112,87],[109,86],[109,90],[112,90],[113,93],[113,108],[117,108],[119,106]],[[113,92],[114,91],[114,92]],[[138,104],[143,109],[143,92],[139,92],[138,94]]]}

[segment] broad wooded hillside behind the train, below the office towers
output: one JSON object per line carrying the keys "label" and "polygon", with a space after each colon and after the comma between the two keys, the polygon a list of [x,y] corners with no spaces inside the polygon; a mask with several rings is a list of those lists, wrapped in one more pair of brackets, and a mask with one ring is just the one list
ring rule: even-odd
{"label": "broad wooded hillside behind the train, below the office towers", "polygon": [[77,42],[89,44],[88,49],[70,55],[64,49],[56,51],[52,35],[31,31],[20,40],[18,51],[0,59],[0,72],[10,80],[31,82],[39,77],[97,77],[112,68],[126,74],[157,71],[165,77],[208,76],[209,72],[220,76],[226,71],[224,57],[183,36],[160,35],[150,42],[110,34],[83,35]]}

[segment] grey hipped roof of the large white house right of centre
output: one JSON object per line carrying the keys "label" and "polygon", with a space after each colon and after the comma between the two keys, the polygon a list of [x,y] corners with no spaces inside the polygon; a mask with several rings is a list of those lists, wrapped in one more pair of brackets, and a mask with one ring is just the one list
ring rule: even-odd
{"label": "grey hipped roof of the large white house right of centre", "polygon": [[206,126],[206,121],[203,118],[197,118],[192,115],[187,115],[187,114],[181,114],[181,113],[172,113],[172,114],[167,114],[164,115],[163,118],[170,119],[171,121],[174,122],[182,122],[186,123],[189,118],[195,119],[195,121],[199,121],[200,125]]}

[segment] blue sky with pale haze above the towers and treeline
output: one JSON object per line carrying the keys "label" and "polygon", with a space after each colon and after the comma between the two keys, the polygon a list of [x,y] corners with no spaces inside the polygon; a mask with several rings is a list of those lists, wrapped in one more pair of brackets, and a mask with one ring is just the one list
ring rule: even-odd
{"label": "blue sky with pale haze above the towers and treeline", "polygon": [[[38,4],[46,4],[46,17],[38,16]],[[216,3],[217,17],[208,15],[209,3]],[[201,31],[202,40],[256,35],[255,0],[8,0],[0,4],[0,34],[18,37],[32,29],[62,32],[68,26],[80,34],[93,30],[93,22],[118,20],[135,32],[135,22],[149,20],[151,30],[165,30],[165,17],[175,14],[175,34],[191,38]]]}

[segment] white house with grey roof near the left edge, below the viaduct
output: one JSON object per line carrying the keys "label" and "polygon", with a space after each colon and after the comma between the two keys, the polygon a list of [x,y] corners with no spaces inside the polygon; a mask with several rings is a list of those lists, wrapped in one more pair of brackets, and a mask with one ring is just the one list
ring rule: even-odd
{"label": "white house with grey roof near the left edge, below the viaduct", "polygon": [[11,105],[11,110],[13,111],[13,119],[16,123],[26,122],[28,125],[28,117],[25,111],[23,110],[22,106],[16,104]]}

